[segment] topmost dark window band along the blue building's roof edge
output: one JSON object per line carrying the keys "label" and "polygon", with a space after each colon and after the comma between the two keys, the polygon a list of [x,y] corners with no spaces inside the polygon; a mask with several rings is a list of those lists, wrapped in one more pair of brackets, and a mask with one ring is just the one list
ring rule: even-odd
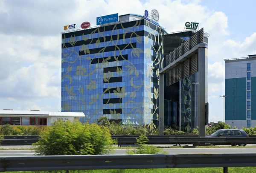
{"label": "topmost dark window band along the blue building's roof edge", "polygon": [[[138,22],[137,25],[136,25],[136,22]],[[95,33],[98,33],[99,31],[100,32],[112,31],[112,30],[115,30],[115,29],[136,27],[136,26],[142,26],[142,25],[146,25],[146,20],[143,19],[143,20],[131,21],[131,22],[127,22],[127,23],[120,23],[120,24],[117,24],[117,25],[99,27],[99,30],[96,30],[96,31],[95,31],[95,28],[92,28],[92,29],[86,29],[86,30],[81,30],[81,31],[76,31],[76,32],[70,32],[70,33],[61,34],[61,36],[62,36],[62,39],[64,39],[64,35],[65,35],[66,38],[70,38],[73,35],[81,36],[83,34],[84,35],[91,34],[93,31],[95,31]],[[158,26],[156,26],[152,23],[148,23],[148,26],[150,28],[152,28],[153,31],[159,31],[160,30]],[[164,35],[163,30],[162,30],[162,32],[163,32],[163,35]]]}

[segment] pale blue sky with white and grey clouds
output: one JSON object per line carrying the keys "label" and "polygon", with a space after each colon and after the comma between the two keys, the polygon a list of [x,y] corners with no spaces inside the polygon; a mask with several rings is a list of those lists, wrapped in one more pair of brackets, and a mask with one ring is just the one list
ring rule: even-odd
{"label": "pale blue sky with white and grey clouds", "polygon": [[0,109],[61,111],[63,26],[157,9],[166,31],[209,33],[209,122],[223,121],[224,59],[255,54],[255,0],[0,0]]}

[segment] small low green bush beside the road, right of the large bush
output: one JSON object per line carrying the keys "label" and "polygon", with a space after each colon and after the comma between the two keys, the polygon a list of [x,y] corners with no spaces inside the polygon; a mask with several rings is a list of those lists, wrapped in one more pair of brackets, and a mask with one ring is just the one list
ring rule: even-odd
{"label": "small low green bush beside the road, right of the large bush", "polygon": [[141,135],[136,140],[136,145],[139,145],[137,150],[126,150],[127,154],[167,154],[167,152],[163,152],[163,149],[153,145],[146,145],[148,138],[145,135]]}

